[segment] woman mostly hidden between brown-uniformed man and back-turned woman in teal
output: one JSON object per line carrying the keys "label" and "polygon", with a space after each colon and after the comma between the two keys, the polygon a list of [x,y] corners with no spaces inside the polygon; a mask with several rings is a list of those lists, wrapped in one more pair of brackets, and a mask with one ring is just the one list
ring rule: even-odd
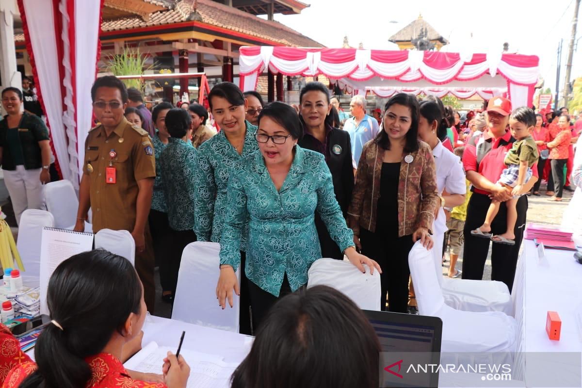
{"label": "woman mostly hidden between brown-uniformed man and back-turned woman in teal", "polygon": [[[151,238],[154,245],[155,262],[159,266],[159,282],[162,286],[162,301],[172,303],[174,294],[172,293],[171,275],[168,262],[166,260],[166,249],[170,241],[170,226],[168,224],[168,207],[164,198],[164,181],[162,180],[162,166],[159,164],[159,156],[168,145],[170,134],[166,129],[166,113],[173,106],[169,102],[161,102],[154,106],[151,112],[151,119],[155,127],[155,135],[151,140],[154,145],[155,157],[155,181],[154,191],[151,195],[151,209],[148,215]],[[128,108],[129,109],[129,108]]]}

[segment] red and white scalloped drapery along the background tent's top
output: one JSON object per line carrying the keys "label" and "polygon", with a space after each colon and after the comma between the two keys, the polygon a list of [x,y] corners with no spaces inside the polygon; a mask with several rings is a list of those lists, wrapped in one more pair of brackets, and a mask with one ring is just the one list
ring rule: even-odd
{"label": "red and white scalloped drapery along the background tent's top", "polygon": [[342,80],[359,93],[367,88],[396,87],[449,89],[459,95],[506,90],[514,106],[529,106],[538,80],[539,58],[534,55],[473,54],[462,58],[439,51],[299,47],[241,47],[239,52],[243,90],[254,90],[258,75],[268,67],[286,76],[323,74],[332,81]]}

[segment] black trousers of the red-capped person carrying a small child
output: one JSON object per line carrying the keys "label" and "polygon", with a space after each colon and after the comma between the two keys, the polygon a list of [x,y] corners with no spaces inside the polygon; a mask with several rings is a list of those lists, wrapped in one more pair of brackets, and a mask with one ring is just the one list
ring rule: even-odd
{"label": "black trousers of the red-capped person carrying a small child", "polygon": [[[515,277],[515,268],[517,265],[517,256],[521,240],[523,240],[523,231],[526,225],[527,215],[527,195],[522,195],[517,200],[517,222],[513,233],[515,233],[515,245],[504,245],[492,243],[489,239],[473,236],[471,230],[477,229],[485,220],[487,210],[491,200],[488,195],[473,193],[467,205],[467,219],[463,230],[465,239],[463,247],[463,279],[481,280],[483,278],[483,269],[485,260],[491,247],[491,280],[499,280],[507,284],[509,291],[513,287],[513,278]],[[507,230],[507,208],[505,202],[499,206],[499,212],[491,223],[491,233],[501,234]]]}

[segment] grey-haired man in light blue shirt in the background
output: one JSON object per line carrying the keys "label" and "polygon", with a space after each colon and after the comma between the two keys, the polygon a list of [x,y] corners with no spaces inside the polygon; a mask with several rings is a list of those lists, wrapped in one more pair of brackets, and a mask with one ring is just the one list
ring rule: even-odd
{"label": "grey-haired man in light blue shirt in the background", "polygon": [[362,147],[378,134],[378,122],[365,114],[366,101],[362,95],[354,95],[350,102],[352,118],[348,119],[343,129],[350,134],[352,141],[352,155],[357,168],[362,153]]}

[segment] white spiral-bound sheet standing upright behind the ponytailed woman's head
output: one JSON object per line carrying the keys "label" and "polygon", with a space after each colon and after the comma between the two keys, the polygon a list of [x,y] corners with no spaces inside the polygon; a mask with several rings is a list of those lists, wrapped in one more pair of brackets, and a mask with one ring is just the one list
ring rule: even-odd
{"label": "white spiral-bound sheet standing upright behind the ponytailed woman's head", "polygon": [[69,257],[93,248],[93,233],[43,227],[40,254],[40,312],[48,315],[48,280],[56,267]]}

